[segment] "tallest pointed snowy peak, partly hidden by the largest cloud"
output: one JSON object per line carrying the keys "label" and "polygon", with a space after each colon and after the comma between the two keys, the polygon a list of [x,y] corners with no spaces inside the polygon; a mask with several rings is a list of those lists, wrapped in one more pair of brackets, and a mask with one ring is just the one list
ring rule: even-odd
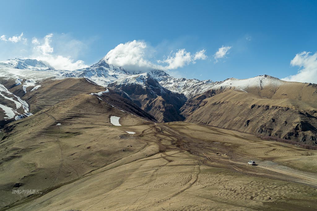
{"label": "tallest pointed snowy peak, partly hidden by the largest cloud", "polygon": [[109,65],[104,59],[90,67],[67,72],[62,74],[64,77],[88,78],[101,86],[107,86],[113,81],[130,76],[131,74],[122,67]]}

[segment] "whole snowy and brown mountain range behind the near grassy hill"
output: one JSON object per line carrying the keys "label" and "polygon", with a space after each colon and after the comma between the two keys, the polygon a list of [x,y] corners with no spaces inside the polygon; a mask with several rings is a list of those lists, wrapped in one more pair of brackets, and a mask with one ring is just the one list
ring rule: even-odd
{"label": "whole snowy and brown mountain range behind the near grassy hill", "polygon": [[[122,110],[139,108],[143,113],[137,115],[142,118],[188,121],[317,144],[316,84],[286,82],[268,75],[220,82],[174,78],[162,70],[129,72],[105,59],[75,71],[55,70],[35,59],[8,59],[0,62],[0,73],[1,126],[66,100],[67,95],[86,93],[88,83],[99,87],[97,90],[107,87],[110,104],[120,107],[114,99],[131,102]],[[58,81],[70,78],[85,79],[58,87]]]}

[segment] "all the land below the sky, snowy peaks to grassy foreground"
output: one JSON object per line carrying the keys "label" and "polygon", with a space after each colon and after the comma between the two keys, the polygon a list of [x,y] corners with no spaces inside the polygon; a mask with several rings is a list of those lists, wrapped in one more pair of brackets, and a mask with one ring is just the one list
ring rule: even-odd
{"label": "all the land below the sky, snowy peaks to grassy foreground", "polygon": [[316,210],[316,128],[317,84],[8,59],[0,210]]}

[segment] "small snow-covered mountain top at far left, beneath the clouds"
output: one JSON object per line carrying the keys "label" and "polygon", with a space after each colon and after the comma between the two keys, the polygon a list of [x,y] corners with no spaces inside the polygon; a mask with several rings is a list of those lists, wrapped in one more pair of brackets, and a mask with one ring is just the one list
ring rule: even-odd
{"label": "small snow-covered mountain top at far left, beneath the clouds", "polygon": [[16,69],[28,70],[55,70],[54,67],[45,61],[38,61],[36,59],[7,59],[1,63],[12,65]]}

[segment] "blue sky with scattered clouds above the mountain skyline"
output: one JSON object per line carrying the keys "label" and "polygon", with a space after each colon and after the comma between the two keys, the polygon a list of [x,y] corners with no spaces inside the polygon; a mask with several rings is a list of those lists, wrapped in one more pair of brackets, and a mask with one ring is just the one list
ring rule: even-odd
{"label": "blue sky with scattered clouds above the mountain skyline", "polygon": [[[214,81],[295,75],[289,79],[317,83],[316,1],[0,2],[5,8],[0,13],[0,36],[5,35],[0,60],[47,58],[59,66],[61,58],[75,68],[114,49],[108,54],[112,62],[135,69],[141,65],[142,71],[162,67],[175,76]],[[18,40],[21,33],[19,41],[9,40],[14,35]],[[116,48],[120,43],[126,45]],[[46,44],[53,50],[43,50]],[[129,47],[141,47],[132,54],[139,60],[114,55],[131,53]],[[198,52],[204,56],[195,59]],[[179,62],[177,53],[186,59]]]}

